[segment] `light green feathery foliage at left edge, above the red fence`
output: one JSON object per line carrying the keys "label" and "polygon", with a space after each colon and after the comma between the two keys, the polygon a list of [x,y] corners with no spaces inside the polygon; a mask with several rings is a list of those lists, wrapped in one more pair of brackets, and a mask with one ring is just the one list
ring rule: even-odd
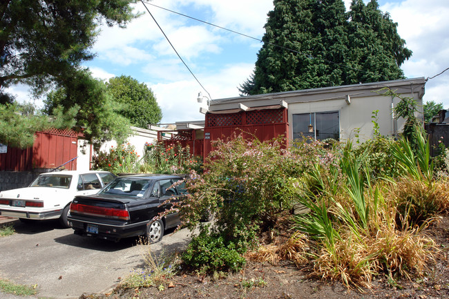
{"label": "light green feathery foliage at left edge, above the red fence", "polygon": [[48,128],[71,128],[75,121],[78,106],[63,113],[61,107],[55,107],[52,117],[35,113],[32,104],[0,105],[0,143],[17,148],[27,148],[35,141],[35,132]]}

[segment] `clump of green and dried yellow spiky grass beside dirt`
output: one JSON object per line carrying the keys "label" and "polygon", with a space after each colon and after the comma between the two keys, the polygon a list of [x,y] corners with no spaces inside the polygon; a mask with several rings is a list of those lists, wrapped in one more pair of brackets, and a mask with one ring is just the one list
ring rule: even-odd
{"label": "clump of green and dried yellow spiky grass beside dirt", "polygon": [[[350,143],[347,144],[340,162],[344,184],[337,184],[337,189],[329,184],[317,184],[320,182],[317,177],[323,177],[323,169],[319,167],[303,176],[302,184],[296,184],[300,202],[311,211],[296,216],[296,229],[315,240],[310,243],[314,244],[310,254],[313,273],[357,288],[370,287],[377,275],[422,276],[434,249],[433,242],[421,235],[429,218],[423,218],[421,229],[415,226],[417,222],[411,221],[410,211],[417,209],[401,213],[398,198],[412,202],[407,200],[407,196],[412,196],[425,202],[426,197],[434,205],[437,200],[430,198],[435,199],[437,195],[432,193],[425,175],[420,175],[419,181],[408,177],[399,182],[372,182],[371,171],[360,160],[362,157],[354,155]],[[414,184],[414,189],[409,190],[403,184],[410,187]],[[403,195],[395,195],[398,192]],[[398,225],[399,218],[403,219],[401,225]]]}

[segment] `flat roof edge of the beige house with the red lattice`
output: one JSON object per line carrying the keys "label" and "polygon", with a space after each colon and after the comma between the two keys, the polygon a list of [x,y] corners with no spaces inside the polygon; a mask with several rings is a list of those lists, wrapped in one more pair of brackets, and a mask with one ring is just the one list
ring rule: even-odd
{"label": "flat roof edge of the beige house with the red lattice", "polygon": [[424,95],[424,77],[401,79],[393,81],[371,82],[344,86],[312,88],[304,90],[285,91],[281,93],[266,93],[262,95],[249,95],[246,97],[230,97],[226,99],[213,99],[210,102],[210,112],[220,110],[242,109],[244,107],[265,107],[274,105],[316,102],[329,99],[345,99],[347,95],[352,98],[375,96],[376,92],[388,87],[399,94],[415,94],[421,98]]}

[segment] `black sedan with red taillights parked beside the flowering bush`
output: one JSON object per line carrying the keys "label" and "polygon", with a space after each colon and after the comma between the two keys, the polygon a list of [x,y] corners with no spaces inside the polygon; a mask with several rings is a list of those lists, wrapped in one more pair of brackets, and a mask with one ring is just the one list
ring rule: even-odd
{"label": "black sedan with red taillights parked beside the flowering bush", "polygon": [[118,241],[145,235],[159,242],[165,229],[180,224],[176,211],[160,218],[186,193],[176,175],[128,175],[116,177],[96,195],[77,196],[70,204],[68,222],[77,235]]}

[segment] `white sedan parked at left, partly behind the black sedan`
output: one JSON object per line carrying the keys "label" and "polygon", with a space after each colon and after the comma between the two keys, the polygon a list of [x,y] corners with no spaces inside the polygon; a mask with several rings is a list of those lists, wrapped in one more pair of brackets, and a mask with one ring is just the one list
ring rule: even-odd
{"label": "white sedan parked at left, partly behind the black sedan", "polygon": [[0,215],[21,221],[59,218],[69,227],[67,215],[76,195],[92,195],[115,178],[107,171],[42,173],[27,188],[0,192]]}

